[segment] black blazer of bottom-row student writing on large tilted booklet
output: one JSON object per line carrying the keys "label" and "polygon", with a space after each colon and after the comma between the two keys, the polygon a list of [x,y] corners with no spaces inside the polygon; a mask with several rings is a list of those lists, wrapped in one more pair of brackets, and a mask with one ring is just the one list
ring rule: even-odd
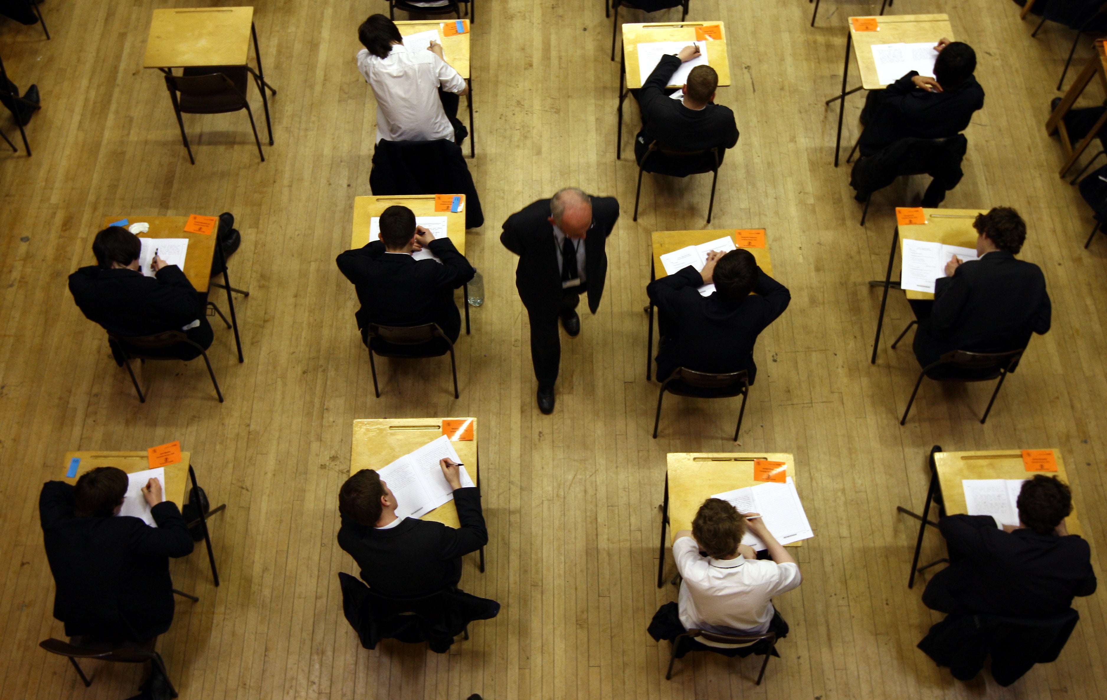
{"label": "black blazer of bottom-row student writing on large tilted booklet", "polygon": [[452,588],[462,578],[462,556],[488,542],[480,492],[458,488],[454,505],[462,525],[457,529],[412,517],[376,529],[343,515],[339,546],[358,562],[362,580],[385,596],[416,597]]}

